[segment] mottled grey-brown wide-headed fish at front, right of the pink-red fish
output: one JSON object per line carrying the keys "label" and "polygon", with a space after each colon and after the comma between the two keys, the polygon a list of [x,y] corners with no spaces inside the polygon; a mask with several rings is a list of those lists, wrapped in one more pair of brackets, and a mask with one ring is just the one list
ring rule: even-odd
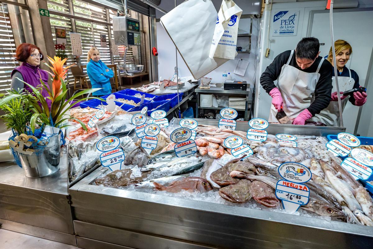
{"label": "mottled grey-brown wide-headed fish at front, right of the pink-red fish", "polygon": [[219,189],[219,194],[223,199],[230,202],[245,203],[251,199],[250,184],[249,180],[242,179],[237,184],[222,187]]}

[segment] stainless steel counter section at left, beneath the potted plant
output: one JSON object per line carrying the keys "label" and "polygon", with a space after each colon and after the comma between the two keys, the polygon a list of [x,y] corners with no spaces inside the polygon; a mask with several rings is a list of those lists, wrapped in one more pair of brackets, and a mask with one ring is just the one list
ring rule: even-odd
{"label": "stainless steel counter section at left, beneath the potted plant", "polygon": [[76,245],[68,195],[66,150],[60,170],[42,178],[27,178],[14,162],[0,163],[1,228]]}

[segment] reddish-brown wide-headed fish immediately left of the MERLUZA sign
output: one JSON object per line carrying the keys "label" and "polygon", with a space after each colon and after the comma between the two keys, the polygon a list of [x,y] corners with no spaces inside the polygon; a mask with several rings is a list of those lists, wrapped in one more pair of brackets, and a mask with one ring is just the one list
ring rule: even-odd
{"label": "reddish-brown wide-headed fish immediately left of the MERLUZA sign", "polygon": [[280,204],[273,189],[262,181],[253,181],[249,187],[251,197],[259,204],[273,208]]}

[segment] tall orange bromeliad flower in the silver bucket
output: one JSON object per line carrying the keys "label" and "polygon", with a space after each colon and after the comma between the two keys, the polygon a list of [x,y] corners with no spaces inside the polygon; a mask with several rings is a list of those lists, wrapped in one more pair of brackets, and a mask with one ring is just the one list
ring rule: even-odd
{"label": "tall orange bromeliad flower in the silver bucket", "polygon": [[[50,69],[52,69],[53,74],[50,73],[53,77],[52,81],[52,101],[56,99],[59,94],[62,93],[62,87],[61,87],[61,80],[65,80],[66,75],[68,73],[68,69],[70,66],[63,67],[63,64],[66,62],[68,58],[65,58],[61,60],[60,57],[54,56],[54,59],[48,56],[48,60],[51,63],[52,66],[48,65]],[[74,65],[74,64],[73,64]]]}

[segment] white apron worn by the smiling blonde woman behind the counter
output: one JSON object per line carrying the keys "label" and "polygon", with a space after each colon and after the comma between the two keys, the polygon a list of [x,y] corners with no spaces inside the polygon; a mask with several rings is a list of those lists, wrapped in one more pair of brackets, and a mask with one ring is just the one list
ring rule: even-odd
{"label": "white apron worn by the smiling blonde woman behind the counter", "polygon": [[[355,80],[351,77],[351,71],[348,69],[348,72],[350,74],[350,77],[342,77],[338,76],[338,85],[339,85],[339,91],[347,91],[351,90],[352,87],[354,87]],[[333,89],[332,93],[337,91],[337,88],[335,86],[335,77],[332,77],[333,81]],[[347,100],[349,97],[341,100],[342,105],[342,113],[343,110],[346,107]],[[325,109],[323,109],[319,114],[316,114],[311,120],[315,122],[322,122],[326,124],[327,126],[339,126],[339,108],[338,108],[338,101],[330,101],[329,106]]]}

